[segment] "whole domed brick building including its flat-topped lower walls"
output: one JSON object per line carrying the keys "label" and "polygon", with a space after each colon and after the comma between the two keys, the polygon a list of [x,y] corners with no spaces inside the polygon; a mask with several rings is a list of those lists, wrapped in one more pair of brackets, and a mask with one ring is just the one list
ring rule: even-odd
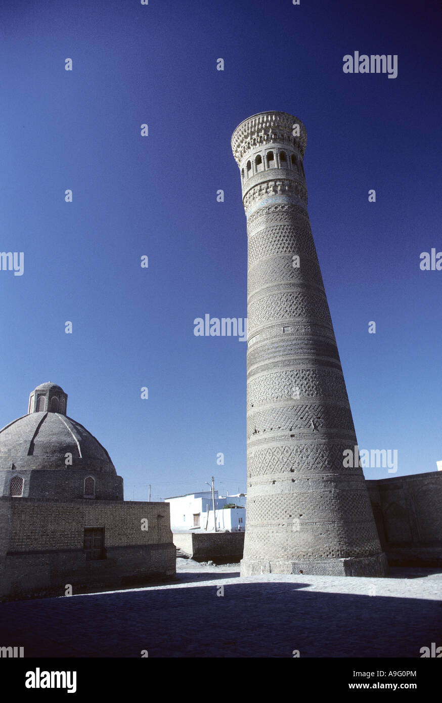
{"label": "whole domed brick building including its flat-topped lower walls", "polygon": [[0,430],[0,599],[174,576],[168,503],[124,501],[102,444],[46,382]]}

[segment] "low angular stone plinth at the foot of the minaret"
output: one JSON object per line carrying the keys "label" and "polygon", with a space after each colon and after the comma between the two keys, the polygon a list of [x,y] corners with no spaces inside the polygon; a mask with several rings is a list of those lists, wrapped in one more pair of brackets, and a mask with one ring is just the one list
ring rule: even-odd
{"label": "low angular stone plinth at the foot of the minaret", "polygon": [[261,574],[314,574],[315,576],[387,576],[386,555],[381,552],[372,557],[347,559],[321,559],[317,561],[268,562],[264,559],[243,559],[240,564],[241,576]]}

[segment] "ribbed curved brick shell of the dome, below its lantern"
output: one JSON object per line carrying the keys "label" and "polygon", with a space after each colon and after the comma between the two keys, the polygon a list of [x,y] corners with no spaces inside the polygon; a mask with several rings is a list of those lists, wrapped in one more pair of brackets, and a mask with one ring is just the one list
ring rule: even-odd
{"label": "ribbed curved brick shell of the dome, below its lantern", "polygon": [[10,470],[12,464],[16,469],[69,468],[66,453],[72,454],[72,468],[117,474],[100,442],[66,415],[30,413],[0,430],[0,470]]}

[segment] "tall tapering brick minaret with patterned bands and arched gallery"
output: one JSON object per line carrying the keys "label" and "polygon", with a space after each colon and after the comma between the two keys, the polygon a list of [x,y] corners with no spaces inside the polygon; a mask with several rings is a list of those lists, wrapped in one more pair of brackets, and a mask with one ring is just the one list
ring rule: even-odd
{"label": "tall tapering brick minaret with patterned bands and arched gallery", "polygon": [[232,149],[248,236],[241,575],[383,576],[357,452],[344,467],[358,443],[307,214],[306,129],[287,112],[259,112]]}

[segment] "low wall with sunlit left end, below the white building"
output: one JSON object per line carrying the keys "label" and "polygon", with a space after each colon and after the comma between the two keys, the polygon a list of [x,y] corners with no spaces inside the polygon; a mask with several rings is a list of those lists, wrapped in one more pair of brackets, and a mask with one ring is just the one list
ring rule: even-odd
{"label": "low wall with sunlit left end, below the white building", "polygon": [[174,544],[197,562],[240,562],[244,532],[174,532]]}

